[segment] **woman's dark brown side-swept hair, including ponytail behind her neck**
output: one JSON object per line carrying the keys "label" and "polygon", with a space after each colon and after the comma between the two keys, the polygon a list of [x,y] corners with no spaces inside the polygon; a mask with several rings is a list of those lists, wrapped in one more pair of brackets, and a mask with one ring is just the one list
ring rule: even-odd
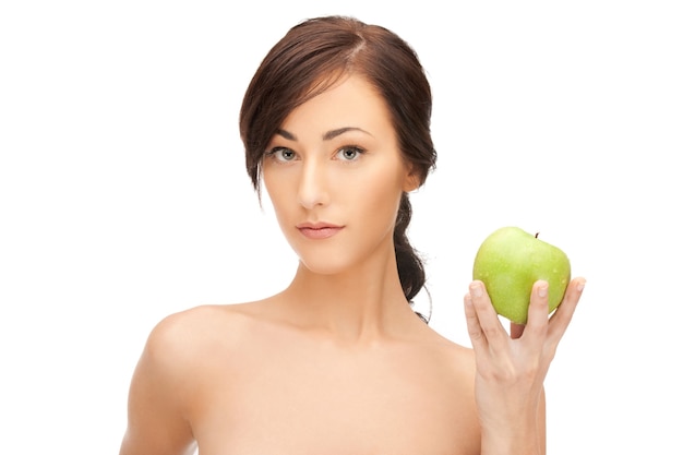
{"label": "woman's dark brown side-swept hair, including ponytail behind her neck", "polygon": [[[435,166],[430,133],[432,95],[414,49],[395,33],[354,17],[307,20],[271,49],[247,88],[240,111],[240,134],[247,171],[260,192],[265,147],[285,118],[301,104],[324,92],[339,77],[358,74],[384,98],[406,161],[422,184]],[[426,282],[422,261],[410,246],[406,229],[411,206],[404,193],[396,217],[394,247],[398,276],[408,301]]]}

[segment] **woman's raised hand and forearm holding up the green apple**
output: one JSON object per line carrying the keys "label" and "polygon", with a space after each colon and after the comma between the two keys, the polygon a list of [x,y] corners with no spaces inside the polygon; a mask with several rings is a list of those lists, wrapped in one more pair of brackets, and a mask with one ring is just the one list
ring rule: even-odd
{"label": "woman's raised hand and forearm holding up the green apple", "polygon": [[573,279],[562,303],[548,318],[548,283],[537,282],[526,325],[501,324],[483,283],[465,296],[467,328],[475,350],[475,395],[481,423],[482,454],[542,454],[543,381],[564,335],[585,279]]}

